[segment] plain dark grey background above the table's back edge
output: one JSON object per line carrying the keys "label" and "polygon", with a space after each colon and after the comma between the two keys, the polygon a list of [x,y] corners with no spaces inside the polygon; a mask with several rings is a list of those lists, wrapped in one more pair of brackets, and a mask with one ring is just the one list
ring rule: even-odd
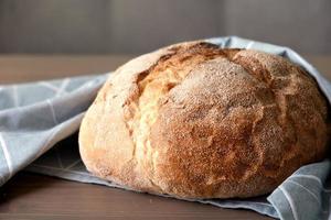
{"label": "plain dark grey background above the table's back edge", "polygon": [[331,54],[331,1],[0,0],[0,53],[139,54],[221,35]]}

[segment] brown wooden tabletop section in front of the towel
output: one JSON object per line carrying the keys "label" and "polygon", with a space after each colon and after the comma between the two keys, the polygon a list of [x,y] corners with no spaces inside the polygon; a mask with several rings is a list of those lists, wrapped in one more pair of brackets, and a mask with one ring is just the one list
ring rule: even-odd
{"label": "brown wooden tabletop section in front of the towel", "polygon": [[267,219],[104,186],[20,173],[1,189],[0,219]]}

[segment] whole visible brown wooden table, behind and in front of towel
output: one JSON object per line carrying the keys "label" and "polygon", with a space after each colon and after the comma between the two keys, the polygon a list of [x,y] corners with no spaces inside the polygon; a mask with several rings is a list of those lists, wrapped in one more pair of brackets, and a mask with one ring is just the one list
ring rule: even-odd
{"label": "whole visible brown wooden table, behind and in front of towel", "polygon": [[[106,73],[132,56],[0,55],[0,84]],[[331,78],[331,56],[309,56]],[[21,172],[0,188],[0,219],[269,219]]]}

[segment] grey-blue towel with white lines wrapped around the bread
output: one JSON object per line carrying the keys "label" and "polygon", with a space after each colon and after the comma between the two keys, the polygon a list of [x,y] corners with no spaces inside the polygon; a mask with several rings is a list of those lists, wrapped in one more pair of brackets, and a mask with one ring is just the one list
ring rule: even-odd
{"label": "grey-blue towel with white lines wrapped around the bread", "polygon": [[[288,47],[236,36],[206,41],[221,47],[254,48],[287,57],[303,66],[317,79],[331,102],[331,84]],[[84,112],[107,77],[108,74],[104,74],[0,86],[0,186],[19,170],[25,169],[125,188],[94,177],[85,169],[78,154],[77,135],[71,138],[74,144],[56,145],[78,130]],[[252,209],[279,219],[331,219],[330,167],[329,158],[302,166],[265,197],[197,201],[217,207]]]}

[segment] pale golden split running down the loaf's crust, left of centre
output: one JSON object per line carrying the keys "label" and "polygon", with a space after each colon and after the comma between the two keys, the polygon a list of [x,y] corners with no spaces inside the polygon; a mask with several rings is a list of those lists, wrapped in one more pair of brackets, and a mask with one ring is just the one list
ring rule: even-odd
{"label": "pale golden split running down the loaf's crust, left of centre", "polygon": [[148,172],[147,178],[157,188],[159,187],[152,180],[157,152],[151,148],[149,135],[162,99],[172,88],[180,85],[196,65],[217,56],[226,56],[222,50],[207,43],[188,47],[174,46],[170,51],[169,55],[162,56],[137,80],[139,98],[130,102],[130,108],[135,110],[131,119],[127,121],[135,143],[132,158],[137,160],[138,166]]}

